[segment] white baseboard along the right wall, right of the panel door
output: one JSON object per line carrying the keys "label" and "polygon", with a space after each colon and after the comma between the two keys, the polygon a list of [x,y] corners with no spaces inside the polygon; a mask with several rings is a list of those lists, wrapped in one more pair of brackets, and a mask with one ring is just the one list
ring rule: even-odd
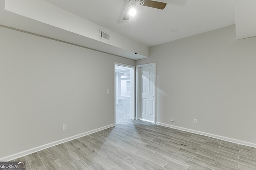
{"label": "white baseboard along the right wall, right of the panel door", "polygon": [[220,139],[220,140],[223,140],[223,141],[228,141],[228,142],[232,142],[232,143],[236,143],[236,144],[240,144],[240,145],[245,145],[245,146],[248,146],[248,147],[256,148],[256,143],[240,141],[238,139],[232,139],[232,138],[229,138],[229,137],[214,135],[214,134],[205,133],[205,132],[201,132],[201,131],[195,131],[193,129],[187,129],[187,128],[184,128],[184,127],[178,127],[178,126],[174,126],[174,125],[169,125],[169,124],[166,124],[166,123],[156,122],[156,124],[157,125],[161,125],[161,126],[165,126],[165,127],[170,127],[170,128],[173,128],[173,129],[178,129],[178,130],[181,130],[181,131],[195,133],[195,134],[198,134],[198,135],[204,135],[204,136],[207,136],[207,137],[212,137],[212,138]]}

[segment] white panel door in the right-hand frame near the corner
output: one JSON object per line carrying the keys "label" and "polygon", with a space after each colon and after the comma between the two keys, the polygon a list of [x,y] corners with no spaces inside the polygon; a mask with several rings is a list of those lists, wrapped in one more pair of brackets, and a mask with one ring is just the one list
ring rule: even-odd
{"label": "white panel door in the right-hand frame near the corner", "polygon": [[154,122],[155,115],[155,70],[154,66],[141,68],[141,113],[140,119]]}

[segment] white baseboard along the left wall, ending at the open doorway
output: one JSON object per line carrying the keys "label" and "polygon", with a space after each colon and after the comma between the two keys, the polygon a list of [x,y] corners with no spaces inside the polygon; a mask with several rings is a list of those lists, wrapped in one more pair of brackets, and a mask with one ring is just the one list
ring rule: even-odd
{"label": "white baseboard along the left wall, ending at the open doorway", "polygon": [[74,135],[72,137],[68,137],[68,138],[65,138],[65,139],[61,139],[59,141],[55,141],[55,142],[52,142],[52,143],[48,143],[48,144],[45,144],[45,145],[42,145],[42,146],[39,146],[39,147],[35,147],[35,148],[32,148],[32,149],[28,149],[28,150],[24,150],[22,152],[18,152],[16,154],[12,154],[12,155],[8,155],[8,156],[5,156],[3,158],[0,158],[0,162],[1,161],[10,161],[10,160],[14,160],[16,158],[20,158],[22,156],[26,156],[28,154],[32,154],[34,152],[38,152],[40,150],[44,150],[44,149],[47,149],[47,148],[50,148],[50,147],[53,147],[55,145],[59,145],[61,143],[65,143],[65,142],[68,142],[68,141],[72,141],[74,139],[77,139],[77,138],[80,138],[80,137],[83,137],[83,136],[86,136],[86,135],[90,135],[92,133],[95,133],[95,132],[98,132],[98,131],[102,131],[104,129],[108,129],[110,127],[114,127],[115,124],[110,124],[110,125],[107,125],[107,126],[104,126],[104,127],[100,127],[98,129],[94,129],[94,130],[91,130],[91,131],[88,131],[88,132],[85,132],[85,133],[81,133],[81,134],[78,134],[78,135]]}

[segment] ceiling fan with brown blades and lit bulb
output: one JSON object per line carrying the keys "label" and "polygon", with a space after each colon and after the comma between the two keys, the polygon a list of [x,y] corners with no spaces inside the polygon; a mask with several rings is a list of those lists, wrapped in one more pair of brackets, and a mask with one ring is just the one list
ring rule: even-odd
{"label": "ceiling fan with brown blades and lit bulb", "polygon": [[[124,0],[122,0],[122,1],[124,1]],[[126,1],[131,2],[131,0],[126,0]],[[142,6],[148,6],[148,7],[157,8],[160,10],[163,10],[166,6],[166,3],[164,3],[164,2],[158,2],[158,1],[153,1],[153,0],[134,0],[134,1],[138,2]],[[127,7],[123,20],[129,20],[129,18],[130,18],[129,11],[134,7],[135,7],[134,3],[132,3],[130,6]]]}

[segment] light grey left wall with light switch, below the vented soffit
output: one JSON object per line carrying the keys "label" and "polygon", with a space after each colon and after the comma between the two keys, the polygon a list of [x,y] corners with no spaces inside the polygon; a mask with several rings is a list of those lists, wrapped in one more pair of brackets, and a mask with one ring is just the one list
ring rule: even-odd
{"label": "light grey left wall with light switch, below the vented soffit", "polygon": [[5,27],[0,37],[0,158],[114,123],[114,62],[133,60]]}

